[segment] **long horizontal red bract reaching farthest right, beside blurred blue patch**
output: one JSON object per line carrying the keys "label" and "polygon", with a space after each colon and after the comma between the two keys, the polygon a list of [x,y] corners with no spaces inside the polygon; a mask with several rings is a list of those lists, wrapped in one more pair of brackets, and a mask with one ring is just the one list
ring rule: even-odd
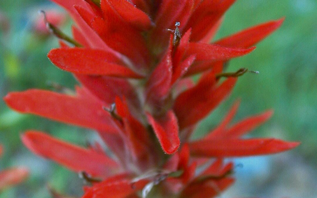
{"label": "long horizontal red bract reaching farthest right, beside blurred blue patch", "polygon": [[208,157],[242,157],[268,155],[293,149],[299,142],[279,139],[212,139],[189,144],[191,153]]}

